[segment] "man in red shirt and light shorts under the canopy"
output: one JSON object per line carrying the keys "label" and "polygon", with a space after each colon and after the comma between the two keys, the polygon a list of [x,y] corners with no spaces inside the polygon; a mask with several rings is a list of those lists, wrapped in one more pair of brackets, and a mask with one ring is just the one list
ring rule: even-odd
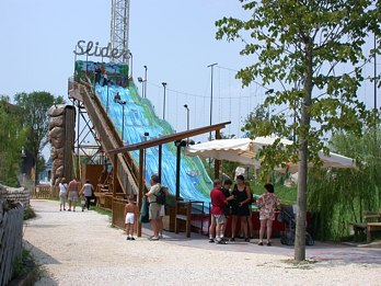
{"label": "man in red shirt and light shorts under the canopy", "polygon": [[226,222],[223,208],[227,206],[227,197],[221,192],[220,180],[215,180],[213,190],[210,192],[211,199],[211,224],[209,227],[209,242],[216,242],[219,244],[226,244],[223,239],[223,225]]}

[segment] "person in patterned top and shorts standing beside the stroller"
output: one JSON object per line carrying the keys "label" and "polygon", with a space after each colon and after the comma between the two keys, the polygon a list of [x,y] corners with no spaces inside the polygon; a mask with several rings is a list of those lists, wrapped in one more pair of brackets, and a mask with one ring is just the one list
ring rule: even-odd
{"label": "person in patterned top and shorts standing beside the stroller", "polygon": [[274,194],[274,185],[265,184],[265,193],[258,197],[256,205],[259,208],[259,242],[263,245],[263,237],[267,227],[267,245],[272,245],[273,221],[275,220],[275,210],[279,207],[279,198]]}

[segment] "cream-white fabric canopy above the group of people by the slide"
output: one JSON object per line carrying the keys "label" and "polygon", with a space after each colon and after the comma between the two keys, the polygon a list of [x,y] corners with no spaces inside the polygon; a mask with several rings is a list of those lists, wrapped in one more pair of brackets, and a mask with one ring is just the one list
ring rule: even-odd
{"label": "cream-white fabric canopy above the group of people by the slide", "polygon": [[[273,145],[278,137],[256,137],[255,139],[217,139],[203,144],[197,144],[185,148],[185,155],[199,156],[204,158],[215,158],[217,160],[227,160],[239,162],[246,165],[261,165],[261,161],[255,160],[258,150],[264,146]],[[282,145],[291,145],[288,139],[280,139]],[[355,168],[355,162],[351,158],[331,152],[324,155],[319,152],[322,160],[322,168]],[[285,162],[291,173],[298,172],[298,164]],[[312,164],[310,164],[312,167]],[[276,168],[281,171],[284,168]]]}

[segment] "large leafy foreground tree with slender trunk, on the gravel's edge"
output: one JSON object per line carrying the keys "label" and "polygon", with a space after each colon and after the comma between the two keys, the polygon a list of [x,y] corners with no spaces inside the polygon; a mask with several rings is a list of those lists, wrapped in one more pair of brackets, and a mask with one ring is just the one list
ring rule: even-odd
{"label": "large leafy foreground tree with slender trunk, on the gravel's edge", "polygon": [[[380,38],[380,4],[368,0],[263,0],[243,2],[247,20],[223,18],[216,22],[217,38],[244,43],[242,56],[254,64],[242,68],[236,77],[243,85],[262,78],[266,87],[278,87],[265,101],[286,105],[295,112],[288,123],[285,113],[270,116],[270,128],[258,123],[252,136],[296,134],[293,146],[276,141],[259,156],[272,155],[265,163],[292,160],[299,164],[298,214],[295,259],[305,259],[305,216],[308,162],[319,164],[332,130],[361,134],[363,125],[374,124],[376,111],[368,111],[357,96],[365,83],[362,67],[377,53],[362,49],[369,33]],[[339,69],[338,69],[339,68]],[[277,152],[277,153],[276,153]]]}

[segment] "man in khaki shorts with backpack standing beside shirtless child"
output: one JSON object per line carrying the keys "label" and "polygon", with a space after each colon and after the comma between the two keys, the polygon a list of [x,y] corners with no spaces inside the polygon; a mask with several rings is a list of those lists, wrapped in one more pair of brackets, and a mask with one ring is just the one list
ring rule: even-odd
{"label": "man in khaki shorts with backpack standing beside shirtless child", "polygon": [[151,221],[153,237],[150,240],[159,240],[159,229],[160,229],[160,209],[161,205],[157,203],[157,195],[160,191],[160,180],[158,175],[151,176],[151,188],[146,194],[148,197],[148,203],[150,203],[149,207],[149,219]]}

